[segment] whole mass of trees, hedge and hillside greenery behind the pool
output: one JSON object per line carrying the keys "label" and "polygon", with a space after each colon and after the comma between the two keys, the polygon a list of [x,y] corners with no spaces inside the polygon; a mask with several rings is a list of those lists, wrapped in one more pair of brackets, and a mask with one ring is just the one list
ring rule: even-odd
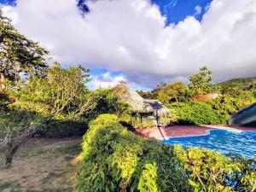
{"label": "whole mass of trees, hedge and hillside greenery behind the pool", "polygon": [[232,113],[256,102],[255,78],[212,84],[212,72],[207,67],[191,75],[188,85],[161,83],[154,90],[138,93],[159,99],[172,110],[175,122],[184,125],[227,124]]}

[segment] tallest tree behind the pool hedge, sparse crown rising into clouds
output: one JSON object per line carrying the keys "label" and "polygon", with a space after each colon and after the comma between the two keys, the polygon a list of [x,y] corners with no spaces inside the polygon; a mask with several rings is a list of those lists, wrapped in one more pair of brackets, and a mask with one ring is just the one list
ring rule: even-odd
{"label": "tallest tree behind the pool hedge, sparse crown rising into clouds", "polygon": [[189,76],[189,90],[192,96],[210,93],[218,90],[216,85],[211,84],[212,82],[212,71],[208,70],[207,67],[200,68],[199,73],[195,73]]}

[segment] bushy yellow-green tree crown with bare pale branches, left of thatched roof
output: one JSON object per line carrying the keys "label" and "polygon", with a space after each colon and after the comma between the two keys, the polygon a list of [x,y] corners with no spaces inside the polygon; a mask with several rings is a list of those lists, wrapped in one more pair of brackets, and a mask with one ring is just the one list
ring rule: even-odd
{"label": "bushy yellow-green tree crown with bare pale branches, left of thatched roof", "polygon": [[82,67],[61,68],[55,63],[46,71],[46,78],[31,77],[20,82],[19,90],[9,90],[16,98],[12,107],[40,113],[52,119],[83,121],[96,106],[93,96],[85,88],[90,80]]}

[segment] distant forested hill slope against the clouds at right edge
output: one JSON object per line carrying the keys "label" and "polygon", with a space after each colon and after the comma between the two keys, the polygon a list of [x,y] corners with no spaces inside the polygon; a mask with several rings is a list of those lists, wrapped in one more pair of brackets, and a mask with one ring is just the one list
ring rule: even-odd
{"label": "distant forested hill slope against the clouds at right edge", "polygon": [[219,85],[221,85],[224,90],[227,90],[230,87],[237,87],[237,88],[240,88],[241,90],[256,89],[256,77],[230,79],[220,83]]}

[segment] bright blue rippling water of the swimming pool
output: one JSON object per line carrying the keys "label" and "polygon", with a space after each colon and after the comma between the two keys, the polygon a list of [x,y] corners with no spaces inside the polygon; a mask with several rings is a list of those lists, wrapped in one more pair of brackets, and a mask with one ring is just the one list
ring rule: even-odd
{"label": "bright blue rippling water of the swimming pool", "polygon": [[256,156],[255,131],[212,130],[207,136],[176,137],[165,140],[168,144],[182,144],[184,148],[210,148],[221,154],[241,154],[246,158]]}

